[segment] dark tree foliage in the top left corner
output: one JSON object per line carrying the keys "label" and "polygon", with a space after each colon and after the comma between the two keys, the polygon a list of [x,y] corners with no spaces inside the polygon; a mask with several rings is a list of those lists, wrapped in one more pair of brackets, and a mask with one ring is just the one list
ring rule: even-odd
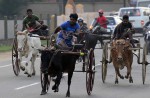
{"label": "dark tree foliage in the top left corner", "polygon": [[0,16],[13,17],[19,15],[24,6],[27,5],[28,0],[1,0],[0,1]]}

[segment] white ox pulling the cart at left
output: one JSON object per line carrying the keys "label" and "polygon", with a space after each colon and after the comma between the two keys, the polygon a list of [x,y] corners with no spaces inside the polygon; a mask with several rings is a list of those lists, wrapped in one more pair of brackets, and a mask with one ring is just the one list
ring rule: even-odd
{"label": "white ox pulling the cart at left", "polygon": [[[41,48],[41,41],[38,37],[30,37],[28,35],[28,31],[18,31],[17,33],[17,42],[18,42],[18,58],[19,58],[19,65],[22,70],[25,70],[25,74],[28,75],[28,77],[31,77],[32,75],[35,75],[35,68],[34,68],[34,62],[36,60],[36,57],[39,53],[37,49]],[[34,35],[38,36],[38,35]],[[22,57],[26,57],[26,66],[23,66],[21,64]],[[30,73],[27,70],[27,65],[31,61],[31,69]]]}

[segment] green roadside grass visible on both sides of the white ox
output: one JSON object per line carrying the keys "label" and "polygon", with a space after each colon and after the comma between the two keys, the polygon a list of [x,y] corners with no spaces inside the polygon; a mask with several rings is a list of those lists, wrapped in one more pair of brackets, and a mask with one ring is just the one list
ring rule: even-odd
{"label": "green roadside grass visible on both sides of the white ox", "polygon": [[[42,40],[41,41],[42,45],[47,45],[47,40]],[[1,45],[0,46],[0,52],[8,52],[11,51],[12,45]]]}

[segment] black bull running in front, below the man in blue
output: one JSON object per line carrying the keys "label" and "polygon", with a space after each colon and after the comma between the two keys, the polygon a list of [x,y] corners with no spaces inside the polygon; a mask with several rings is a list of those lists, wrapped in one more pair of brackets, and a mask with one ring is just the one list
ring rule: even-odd
{"label": "black bull running in front, below the man in blue", "polygon": [[[68,73],[68,91],[66,97],[70,97],[70,85],[73,71],[75,69],[76,60],[79,55],[62,54],[61,51],[42,51],[41,66],[48,67],[48,74],[52,77],[56,76],[55,84],[52,87],[54,92],[58,92],[59,84],[62,78],[62,73]],[[46,75],[48,78],[48,75]],[[46,94],[46,86],[42,88],[41,94]]]}

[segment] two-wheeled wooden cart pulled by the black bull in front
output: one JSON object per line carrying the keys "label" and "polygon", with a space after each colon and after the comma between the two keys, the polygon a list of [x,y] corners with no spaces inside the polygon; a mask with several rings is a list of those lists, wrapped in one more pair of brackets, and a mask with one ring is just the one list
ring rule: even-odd
{"label": "two-wheeled wooden cart pulled by the black bull in front", "polygon": [[[51,36],[50,37],[50,45],[54,45],[55,44],[55,36]],[[52,46],[51,46],[52,47]],[[56,46],[57,47],[57,46]],[[73,49],[75,49],[76,51],[73,51]],[[93,89],[93,85],[94,85],[94,78],[95,78],[95,57],[94,57],[94,50],[91,48],[90,50],[85,49],[85,46],[83,44],[74,44],[73,48],[70,50],[65,50],[65,49],[51,49],[51,48],[46,48],[42,51],[48,51],[53,53],[51,59],[50,59],[50,63],[49,63],[49,69],[48,70],[53,70],[50,69],[50,66],[52,65],[52,62],[55,58],[55,56],[57,55],[57,53],[61,53],[61,55],[72,55],[72,56],[79,56],[82,57],[83,59],[83,65],[82,65],[82,69],[81,70],[74,70],[73,72],[86,72],[86,90],[87,90],[87,94],[90,95]],[[43,56],[45,57],[45,56]],[[42,56],[41,56],[42,59]],[[66,59],[63,59],[66,60]],[[58,61],[57,61],[58,62]],[[42,62],[41,62],[42,65]],[[72,65],[70,65],[72,66]],[[67,69],[70,70],[70,69]],[[66,71],[63,71],[64,73],[66,73]],[[48,92],[49,86],[51,81],[53,80],[53,77],[55,77],[56,75],[54,75],[54,73],[50,73],[48,72],[48,74],[45,74],[43,72],[41,72],[41,87],[42,89],[44,89],[46,87],[46,92]],[[48,78],[46,78],[48,77]],[[68,73],[68,77],[69,77],[69,73]],[[69,79],[69,78],[68,78]],[[46,82],[47,81],[47,82]],[[45,94],[44,93],[44,94]],[[41,95],[44,95],[43,93],[41,93]],[[70,96],[66,94],[66,96]]]}

